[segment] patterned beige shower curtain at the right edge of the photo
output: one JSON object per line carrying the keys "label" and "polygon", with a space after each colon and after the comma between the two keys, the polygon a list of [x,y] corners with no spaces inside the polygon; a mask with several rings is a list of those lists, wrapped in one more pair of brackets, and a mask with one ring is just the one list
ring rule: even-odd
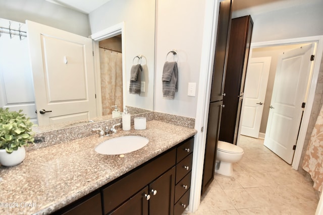
{"label": "patterned beige shower curtain at the right edge of the photo", "polygon": [[317,116],[307,146],[303,169],[311,175],[314,189],[321,192],[323,185],[323,106]]}

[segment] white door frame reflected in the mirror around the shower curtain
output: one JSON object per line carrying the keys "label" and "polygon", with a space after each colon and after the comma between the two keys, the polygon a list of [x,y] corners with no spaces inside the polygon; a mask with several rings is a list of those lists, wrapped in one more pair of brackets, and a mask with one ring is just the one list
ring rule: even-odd
{"label": "white door frame reflected in the mirror around the shower curtain", "polygon": [[[93,33],[89,36],[93,40],[93,60],[94,60],[94,74],[95,74],[95,93],[96,93],[96,113],[97,116],[102,116],[102,97],[101,97],[101,77],[100,77],[100,55],[98,42],[121,34],[122,41],[122,83],[123,83],[123,100],[127,96],[127,78],[126,78],[126,35],[125,22],[121,22],[109,28],[103,29],[99,32]],[[122,110],[125,108],[122,107]]]}

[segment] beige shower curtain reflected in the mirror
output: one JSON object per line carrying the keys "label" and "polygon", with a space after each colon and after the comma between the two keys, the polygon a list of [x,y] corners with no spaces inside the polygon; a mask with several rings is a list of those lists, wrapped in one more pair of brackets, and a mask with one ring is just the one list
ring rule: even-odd
{"label": "beige shower curtain reflected in the mirror", "polygon": [[102,115],[112,114],[112,105],[123,111],[122,54],[99,48]]}

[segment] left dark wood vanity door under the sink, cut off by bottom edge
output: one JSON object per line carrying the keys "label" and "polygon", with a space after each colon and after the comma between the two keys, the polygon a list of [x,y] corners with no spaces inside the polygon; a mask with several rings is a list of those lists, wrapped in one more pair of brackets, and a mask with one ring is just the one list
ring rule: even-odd
{"label": "left dark wood vanity door under the sink, cut off by bottom edge", "polygon": [[136,195],[131,197],[128,201],[118,207],[116,210],[109,214],[114,215],[148,215],[148,186],[140,190]]}

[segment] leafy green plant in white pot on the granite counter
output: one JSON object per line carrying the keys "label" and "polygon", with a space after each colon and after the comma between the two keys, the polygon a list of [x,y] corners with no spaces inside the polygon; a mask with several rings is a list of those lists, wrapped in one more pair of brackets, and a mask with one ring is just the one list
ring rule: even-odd
{"label": "leafy green plant in white pot on the granite counter", "polygon": [[0,163],[3,166],[15,166],[25,159],[24,146],[34,143],[32,126],[22,110],[0,108]]}

